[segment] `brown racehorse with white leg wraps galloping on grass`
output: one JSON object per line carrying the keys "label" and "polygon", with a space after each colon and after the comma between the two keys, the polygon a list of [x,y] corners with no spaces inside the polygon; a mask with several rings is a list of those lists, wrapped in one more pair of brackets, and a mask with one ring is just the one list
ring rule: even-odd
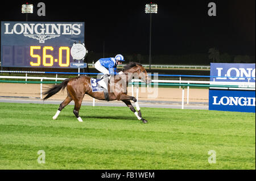
{"label": "brown racehorse with white leg wraps galloping on grass", "polygon": [[[137,99],[134,98],[134,96],[127,95],[128,82],[130,82],[134,77],[141,79],[147,84],[151,83],[151,79],[148,77],[147,71],[143,68],[143,66],[137,62],[130,62],[124,66],[123,74],[111,76],[108,84],[108,100],[122,100],[122,102],[124,102],[126,106],[134,112],[138,120],[142,120],[143,123],[147,123],[147,120],[142,118],[141,109],[139,108]],[[77,120],[82,122],[82,119],[79,116],[79,110],[85,94],[88,94],[98,100],[106,100],[104,91],[92,91],[90,79],[91,78],[88,76],[68,78],[61,82],[59,85],[50,87],[46,92],[43,93],[46,95],[43,100],[46,100],[59,92],[61,89],[64,90],[65,87],[67,87],[67,98],[65,98],[65,100],[60,104],[60,107],[57,110],[55,116],[52,117],[53,120],[57,119],[60,111],[63,110],[63,108],[67,106],[72,100],[74,100],[75,107],[73,113],[75,114]],[[125,83],[125,86],[123,86],[123,82]],[[130,100],[133,100],[138,112],[135,110]]]}

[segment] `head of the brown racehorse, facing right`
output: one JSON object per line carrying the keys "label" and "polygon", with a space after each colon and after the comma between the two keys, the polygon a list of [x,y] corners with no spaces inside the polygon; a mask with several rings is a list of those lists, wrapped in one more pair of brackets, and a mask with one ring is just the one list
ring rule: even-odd
{"label": "head of the brown racehorse, facing right", "polygon": [[143,66],[136,62],[130,62],[125,67],[126,73],[133,73],[133,77],[138,77],[143,82],[146,82],[147,84],[151,83],[150,77],[147,75],[146,69],[143,68]]}

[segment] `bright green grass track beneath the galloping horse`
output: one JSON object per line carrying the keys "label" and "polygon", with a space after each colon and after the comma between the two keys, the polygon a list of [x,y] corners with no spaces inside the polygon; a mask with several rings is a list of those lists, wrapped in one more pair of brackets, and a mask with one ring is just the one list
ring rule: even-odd
{"label": "bright green grass track beneath the galloping horse", "polygon": [[255,113],[58,107],[0,103],[0,169],[255,169]]}

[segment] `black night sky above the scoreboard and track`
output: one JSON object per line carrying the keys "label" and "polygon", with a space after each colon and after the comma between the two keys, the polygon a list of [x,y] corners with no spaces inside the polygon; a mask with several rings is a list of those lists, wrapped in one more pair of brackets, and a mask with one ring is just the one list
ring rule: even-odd
{"label": "black night sky above the scoreboard and track", "polygon": [[[25,21],[23,3],[34,4],[28,21],[85,22],[89,51],[148,54],[150,15],[144,6],[151,1],[14,1],[0,7],[1,20]],[[46,3],[46,16],[38,16],[38,2]],[[220,53],[255,56],[255,0],[152,1],[152,54]],[[215,2],[217,16],[208,16]]]}

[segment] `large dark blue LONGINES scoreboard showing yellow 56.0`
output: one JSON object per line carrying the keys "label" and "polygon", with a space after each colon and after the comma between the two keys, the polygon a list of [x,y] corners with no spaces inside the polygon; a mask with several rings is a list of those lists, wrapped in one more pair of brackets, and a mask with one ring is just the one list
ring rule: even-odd
{"label": "large dark blue LONGINES scoreboard showing yellow 56.0", "polygon": [[84,22],[1,22],[3,67],[70,68],[73,43],[84,43]]}

